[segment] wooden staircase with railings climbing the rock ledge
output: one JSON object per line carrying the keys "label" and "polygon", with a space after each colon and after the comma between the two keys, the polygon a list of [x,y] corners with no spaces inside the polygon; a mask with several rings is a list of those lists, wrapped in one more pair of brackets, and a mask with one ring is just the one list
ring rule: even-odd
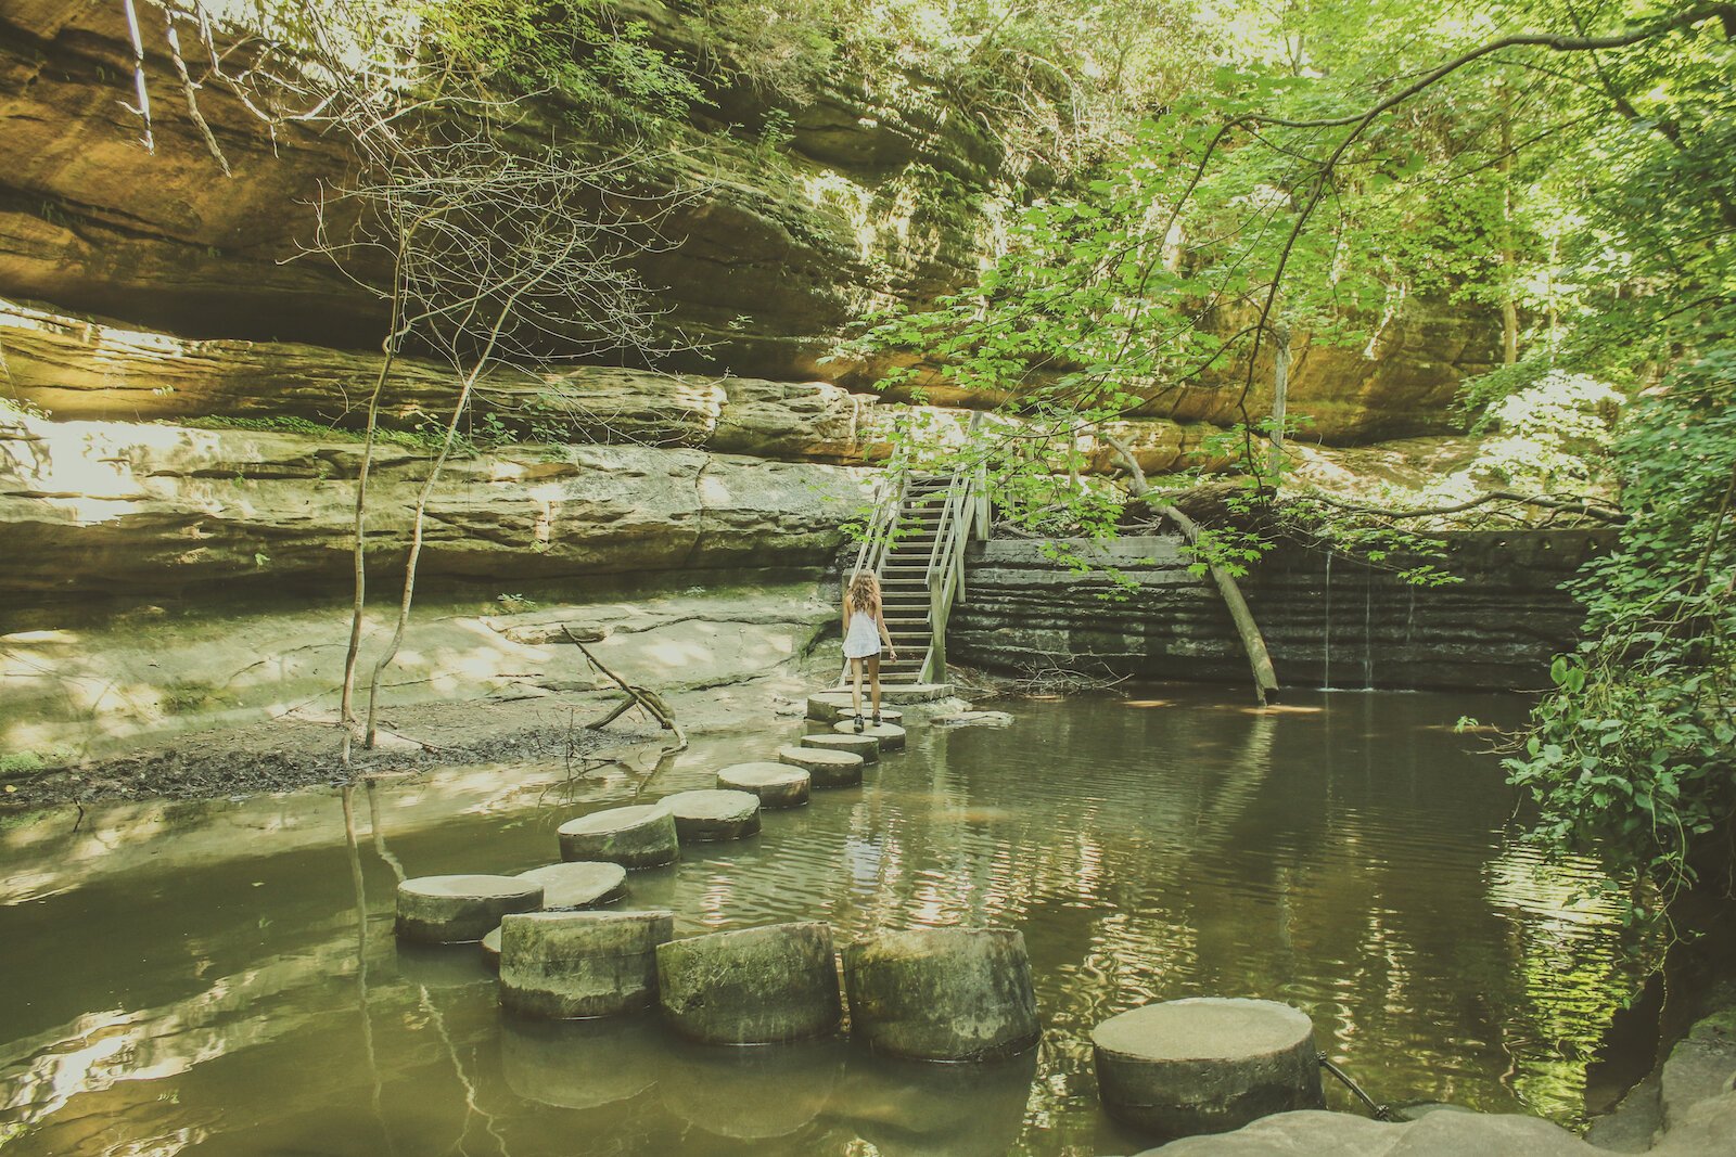
{"label": "wooden staircase with railings climbing the rock ledge", "polygon": [[882,683],[944,682],[946,618],[963,600],[963,548],[972,534],[988,536],[976,479],[913,474],[887,486],[854,567],[880,576],[885,630],[898,650],[896,663],[880,659]]}

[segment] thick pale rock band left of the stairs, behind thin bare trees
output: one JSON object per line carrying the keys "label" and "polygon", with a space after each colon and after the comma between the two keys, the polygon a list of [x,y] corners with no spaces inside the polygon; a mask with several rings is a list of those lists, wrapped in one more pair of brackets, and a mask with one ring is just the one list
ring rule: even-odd
{"label": "thick pale rock band left of the stairs, behind thin bare trees", "polygon": [[[0,590],[153,590],[347,572],[358,442],[0,418]],[[368,534],[401,559],[427,456],[378,448]],[[521,446],[453,460],[424,574],[495,579],[818,569],[865,501],[849,467],[693,449]]]}

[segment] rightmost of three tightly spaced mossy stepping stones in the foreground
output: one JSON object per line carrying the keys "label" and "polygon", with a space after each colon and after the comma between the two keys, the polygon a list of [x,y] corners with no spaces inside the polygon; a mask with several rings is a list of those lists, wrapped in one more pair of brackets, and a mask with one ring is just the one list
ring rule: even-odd
{"label": "rightmost of three tightly spaced mossy stepping stones in the foreground", "polygon": [[844,949],[851,1032],[913,1060],[993,1060],[1036,1044],[1024,937],[1010,928],[877,931]]}

